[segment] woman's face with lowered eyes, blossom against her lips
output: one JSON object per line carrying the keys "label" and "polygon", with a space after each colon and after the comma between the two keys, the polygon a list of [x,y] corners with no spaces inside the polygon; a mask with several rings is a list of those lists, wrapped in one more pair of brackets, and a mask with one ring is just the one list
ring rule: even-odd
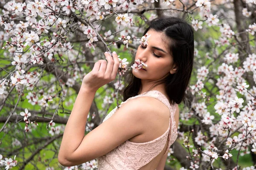
{"label": "woman's face with lowered eyes, blossom against her lips", "polygon": [[152,29],[148,30],[148,45],[141,44],[135,56],[135,59],[142,60],[147,67],[145,70],[140,69],[132,73],[135,77],[148,81],[157,81],[167,76],[169,73],[174,74],[176,71],[173,58],[168,52],[169,41],[164,40],[162,32],[157,32]]}

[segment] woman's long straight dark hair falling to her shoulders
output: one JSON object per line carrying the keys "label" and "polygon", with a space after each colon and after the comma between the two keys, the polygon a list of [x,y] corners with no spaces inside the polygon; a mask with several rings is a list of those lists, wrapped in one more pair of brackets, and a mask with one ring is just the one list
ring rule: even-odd
{"label": "woman's long straight dark hair falling to her shoulders", "polygon": [[[169,52],[177,65],[175,74],[170,74],[158,81],[154,86],[165,83],[165,90],[172,104],[183,100],[189,79],[191,77],[194,60],[194,35],[193,28],[185,20],[178,17],[161,17],[149,22],[148,30],[163,32],[169,38]],[[135,57],[131,62],[134,63]],[[128,77],[128,79],[127,79]],[[141,79],[135,77],[130,71],[125,77],[124,101],[139,93]],[[152,88],[154,88],[154,86]]]}

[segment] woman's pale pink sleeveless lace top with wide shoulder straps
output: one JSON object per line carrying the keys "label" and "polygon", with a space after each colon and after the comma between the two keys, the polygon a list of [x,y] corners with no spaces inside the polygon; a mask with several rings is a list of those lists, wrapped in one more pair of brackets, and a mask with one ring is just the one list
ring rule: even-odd
{"label": "woman's pale pink sleeveless lace top with wide shoulder straps", "polygon": [[[163,149],[168,138],[168,145],[165,154],[168,152],[169,147],[177,138],[177,128],[175,124],[174,114],[177,108],[177,104],[170,105],[166,96],[164,96],[159,91],[148,91],[146,93],[131,97],[125,102],[131,99],[150,96],[155,99],[160,100],[165,104],[170,110],[169,127],[162,136],[149,142],[144,143],[134,143],[129,140],[120,144],[115,149],[111,150],[109,153],[97,158],[98,170],[138,170],[144,165],[148,164],[152,159],[154,159]],[[120,104],[120,107],[125,102]],[[105,122],[110,118],[116,111],[117,107],[114,108],[103,120]],[[172,121],[172,123],[171,123]]]}

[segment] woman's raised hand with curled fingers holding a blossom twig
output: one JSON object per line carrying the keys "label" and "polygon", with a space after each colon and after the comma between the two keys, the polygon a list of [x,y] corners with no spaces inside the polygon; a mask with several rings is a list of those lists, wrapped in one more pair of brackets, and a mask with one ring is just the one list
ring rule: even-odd
{"label": "woman's raised hand with curled fingers holding a blossom twig", "polygon": [[108,63],[103,59],[96,62],[93,70],[84,76],[81,88],[87,88],[87,90],[96,92],[100,87],[116,78],[119,60],[115,51],[112,54],[113,58],[108,52],[104,53]]}

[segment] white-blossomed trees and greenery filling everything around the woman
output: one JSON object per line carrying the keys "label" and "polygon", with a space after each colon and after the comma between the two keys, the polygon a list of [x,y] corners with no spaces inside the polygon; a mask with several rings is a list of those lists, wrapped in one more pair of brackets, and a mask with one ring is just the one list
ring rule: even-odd
{"label": "white-blossomed trees and greenery filling everything around the woman", "polygon": [[127,70],[147,66],[131,63],[150,41],[144,24],[172,14],[195,29],[195,60],[166,169],[254,170],[255,11],[256,0],[1,0],[0,167],[97,169],[96,160],[56,161],[81,80],[105,51],[119,54],[116,80],[91,105],[88,133],[122,101]]}

